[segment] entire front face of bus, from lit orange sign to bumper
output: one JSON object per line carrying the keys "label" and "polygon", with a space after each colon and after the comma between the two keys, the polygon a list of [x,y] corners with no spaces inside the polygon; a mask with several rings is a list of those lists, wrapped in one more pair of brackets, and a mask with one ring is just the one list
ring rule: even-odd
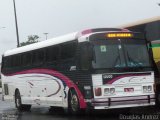
{"label": "entire front face of bus, from lit orange sign to bumper", "polygon": [[94,109],[155,105],[152,61],[140,36],[119,31],[89,36],[93,98],[87,99],[88,105]]}

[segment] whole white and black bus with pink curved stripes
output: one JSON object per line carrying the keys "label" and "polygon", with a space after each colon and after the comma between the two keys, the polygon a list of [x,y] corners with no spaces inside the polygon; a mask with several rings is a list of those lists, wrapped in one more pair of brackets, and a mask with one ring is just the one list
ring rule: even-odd
{"label": "whole white and black bus with pink curved stripes", "polygon": [[61,107],[71,114],[155,105],[154,64],[144,35],[87,29],[6,51],[4,100],[18,110]]}

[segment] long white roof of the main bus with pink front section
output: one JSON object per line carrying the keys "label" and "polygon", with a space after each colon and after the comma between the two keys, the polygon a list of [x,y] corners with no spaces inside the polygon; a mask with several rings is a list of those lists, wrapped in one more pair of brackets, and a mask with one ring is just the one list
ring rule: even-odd
{"label": "long white roof of the main bus with pink front section", "polygon": [[31,51],[31,50],[36,50],[36,49],[40,49],[43,47],[48,47],[48,46],[52,46],[52,45],[56,45],[56,44],[60,44],[60,43],[64,43],[64,42],[69,42],[72,40],[75,40],[81,36],[84,36],[86,34],[91,34],[91,33],[96,33],[96,32],[104,32],[104,31],[127,31],[127,29],[119,29],[119,28],[96,28],[96,29],[87,29],[87,30],[83,30],[80,32],[74,32],[74,33],[70,33],[64,36],[60,36],[60,37],[56,37],[56,38],[52,38],[52,39],[48,39],[45,41],[41,41],[38,43],[33,43],[30,45],[26,45],[23,47],[19,47],[19,48],[15,48],[15,49],[11,49],[6,51],[3,56],[10,56],[10,55],[14,55],[14,54],[18,54],[18,53],[23,53],[23,52],[27,52],[27,51]]}

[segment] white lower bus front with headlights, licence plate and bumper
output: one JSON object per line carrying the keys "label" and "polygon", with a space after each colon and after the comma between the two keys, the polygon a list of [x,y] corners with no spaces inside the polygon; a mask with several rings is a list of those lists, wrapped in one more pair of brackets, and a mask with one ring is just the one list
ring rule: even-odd
{"label": "white lower bus front with headlights, licence plate and bumper", "polygon": [[[155,104],[153,72],[93,75],[95,109],[149,106]],[[98,84],[98,85],[97,85]]]}

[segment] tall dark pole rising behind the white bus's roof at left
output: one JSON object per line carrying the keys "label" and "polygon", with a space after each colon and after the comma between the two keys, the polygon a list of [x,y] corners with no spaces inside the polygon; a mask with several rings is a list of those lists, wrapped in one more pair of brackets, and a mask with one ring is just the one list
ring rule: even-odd
{"label": "tall dark pole rising behind the white bus's roof at left", "polygon": [[18,23],[17,23],[17,14],[16,14],[16,4],[15,0],[13,0],[13,6],[14,6],[14,16],[15,16],[15,25],[16,25],[16,35],[17,35],[17,47],[19,47],[19,33],[18,33]]}

